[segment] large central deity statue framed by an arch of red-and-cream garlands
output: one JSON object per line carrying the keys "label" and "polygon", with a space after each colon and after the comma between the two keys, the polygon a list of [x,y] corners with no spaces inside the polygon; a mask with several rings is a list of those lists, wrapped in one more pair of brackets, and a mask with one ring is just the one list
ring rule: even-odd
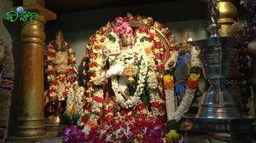
{"label": "large central deity statue framed by an arch of red-and-cream garlands", "polygon": [[175,41],[160,23],[150,26],[150,20],[117,17],[90,37],[84,57],[82,124],[122,120],[124,113],[165,117],[164,63]]}

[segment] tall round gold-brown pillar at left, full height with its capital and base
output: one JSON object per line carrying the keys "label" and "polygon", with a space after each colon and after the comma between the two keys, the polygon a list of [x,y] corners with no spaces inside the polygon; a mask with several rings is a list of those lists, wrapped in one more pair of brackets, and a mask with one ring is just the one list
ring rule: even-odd
{"label": "tall round gold-brown pillar at left, full height with its capital and base", "polygon": [[24,0],[25,10],[38,13],[38,21],[27,20],[21,30],[20,112],[15,136],[6,142],[34,142],[45,138],[44,129],[44,24],[56,15],[44,8],[44,0]]}

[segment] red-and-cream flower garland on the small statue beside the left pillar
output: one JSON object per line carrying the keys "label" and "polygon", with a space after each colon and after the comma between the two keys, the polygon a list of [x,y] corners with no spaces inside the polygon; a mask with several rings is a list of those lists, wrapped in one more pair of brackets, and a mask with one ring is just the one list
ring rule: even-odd
{"label": "red-and-cream flower garland on the small statue beside the left pillar", "polygon": [[56,71],[55,71],[55,55],[57,52],[57,49],[55,48],[54,44],[49,43],[47,46],[46,51],[46,73],[47,73],[47,81],[49,82],[49,91],[48,95],[51,98],[54,98],[55,100],[65,100],[67,98],[67,90],[72,85],[72,83],[75,81],[77,77],[77,72],[75,69],[75,54],[73,52],[73,49],[69,47],[67,43],[65,43],[65,47],[67,47],[67,54],[68,54],[68,69],[67,69],[67,77],[64,81],[64,84],[66,85],[65,90],[62,94],[56,93],[57,83],[56,83]]}

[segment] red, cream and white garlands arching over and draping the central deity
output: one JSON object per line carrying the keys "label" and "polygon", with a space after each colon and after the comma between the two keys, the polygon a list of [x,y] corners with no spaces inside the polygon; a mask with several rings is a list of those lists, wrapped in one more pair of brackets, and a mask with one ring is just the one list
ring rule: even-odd
{"label": "red, cream and white garlands arching over and draping the central deity", "polygon": [[[128,104],[126,106],[136,105],[140,100],[140,94],[142,94],[143,88],[145,87],[144,82],[148,82],[151,110],[154,111],[154,114],[160,116],[165,115],[165,94],[163,90],[164,61],[162,56],[166,51],[166,47],[162,45],[162,39],[160,39],[158,31],[150,27],[156,27],[169,40],[171,43],[171,48],[168,48],[169,50],[173,51],[177,42],[174,40],[171,31],[162,26],[159,22],[154,21],[152,18],[127,15],[124,18],[116,18],[113,22],[113,28],[111,31],[109,31],[108,25],[103,26],[99,31],[96,31],[96,34],[90,37],[89,43],[85,48],[87,52],[84,56],[84,83],[87,85],[87,90],[85,91],[85,95],[87,97],[85,104],[85,119],[88,120],[90,118],[91,121],[97,123],[102,112],[104,92],[102,90],[102,83],[99,81],[104,77],[105,71],[104,68],[102,68],[104,65],[102,64],[102,58],[100,58],[102,55],[101,52],[103,53],[106,50],[106,47],[112,47],[113,49],[108,49],[112,50],[111,52],[119,50],[119,35],[131,32],[131,28],[129,28],[131,26],[130,22],[132,20],[140,20],[141,18],[143,18],[141,21],[143,21],[143,25],[145,26],[140,26],[136,31],[134,31],[137,41],[133,45],[133,49],[144,49],[143,53],[145,53],[137,55],[138,59],[141,60],[141,67],[139,67],[139,69],[142,69],[139,71],[139,75],[141,76],[138,76],[138,82],[140,84],[137,85],[137,92],[131,96],[132,98],[126,100],[125,103],[125,99],[119,94],[116,77],[112,77],[112,88],[116,96],[115,101]],[[134,51],[131,51],[131,53],[132,52]],[[132,57],[133,55],[129,54],[129,52],[124,53],[123,56],[126,57],[123,58],[126,59],[125,62],[133,62],[132,58],[129,57]],[[149,62],[148,65],[143,64],[145,63],[145,60],[151,62]],[[110,65],[113,65],[114,62],[123,61],[120,59],[114,59],[114,57],[112,57],[112,59],[109,58]],[[145,77],[143,73],[148,73],[148,76]]]}

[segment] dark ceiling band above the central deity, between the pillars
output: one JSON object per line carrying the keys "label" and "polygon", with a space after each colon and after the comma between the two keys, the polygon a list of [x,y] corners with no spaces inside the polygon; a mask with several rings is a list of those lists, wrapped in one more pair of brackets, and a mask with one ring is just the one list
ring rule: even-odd
{"label": "dark ceiling band above the central deity, between the pillars", "polygon": [[[108,15],[126,13],[150,15],[162,22],[205,19],[207,5],[203,0],[45,0],[45,7],[56,14],[91,12]],[[109,10],[115,9],[115,10]]]}

